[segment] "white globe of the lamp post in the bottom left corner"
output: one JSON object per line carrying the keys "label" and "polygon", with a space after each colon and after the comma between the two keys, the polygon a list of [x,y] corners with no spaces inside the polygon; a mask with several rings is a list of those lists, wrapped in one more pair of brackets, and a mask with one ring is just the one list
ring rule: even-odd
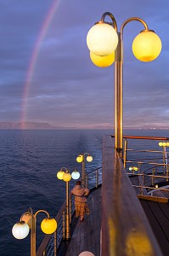
{"label": "white globe of the lamp post in the bottom left corner", "polygon": [[20,221],[14,224],[12,229],[12,234],[16,239],[24,239],[28,236],[30,228],[28,224],[25,224],[25,221]]}

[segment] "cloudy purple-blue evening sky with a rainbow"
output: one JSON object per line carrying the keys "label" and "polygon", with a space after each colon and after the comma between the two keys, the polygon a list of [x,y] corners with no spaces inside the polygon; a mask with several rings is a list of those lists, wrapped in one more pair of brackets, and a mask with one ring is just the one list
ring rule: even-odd
{"label": "cloudy purple-blue evening sky with a rainbow", "polygon": [[168,0],[0,0],[0,122],[114,127],[114,65],[94,66],[86,44],[108,11],[118,31],[137,16],[162,41],[155,61],[138,61],[132,40],[144,27],[132,21],[124,28],[124,127],[168,128],[168,10]]}

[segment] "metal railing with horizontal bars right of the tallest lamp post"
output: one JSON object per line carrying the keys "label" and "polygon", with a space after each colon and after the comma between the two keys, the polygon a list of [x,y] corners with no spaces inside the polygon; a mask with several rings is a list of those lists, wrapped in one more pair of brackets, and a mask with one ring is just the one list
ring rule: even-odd
{"label": "metal railing with horizontal bars right of the tallest lamp post", "polygon": [[[152,149],[138,149],[139,143],[134,148],[132,143],[132,148],[128,148],[128,140],[138,140],[144,139],[149,141],[166,141],[168,137],[135,137],[129,136],[124,137],[124,166],[126,167],[127,174],[131,177],[132,175],[138,176],[138,185],[134,184],[135,188],[139,189],[141,195],[150,194],[156,195],[155,191],[163,192],[163,196],[169,196],[169,189],[160,188],[169,181],[169,152],[166,151],[166,147],[162,150],[152,150]],[[129,160],[132,155],[132,159]],[[146,156],[146,157],[145,157]],[[160,156],[160,157],[159,157]],[[132,169],[131,171],[128,171]],[[159,193],[162,196],[162,193]]]}

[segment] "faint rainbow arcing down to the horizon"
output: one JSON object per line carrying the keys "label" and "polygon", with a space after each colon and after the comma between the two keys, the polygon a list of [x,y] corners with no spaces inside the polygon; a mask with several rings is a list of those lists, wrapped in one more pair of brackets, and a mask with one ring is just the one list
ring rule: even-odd
{"label": "faint rainbow arcing down to the horizon", "polygon": [[61,0],[54,0],[54,3],[52,3],[51,7],[48,10],[48,15],[46,16],[41,31],[39,32],[39,35],[37,37],[37,42],[34,46],[32,55],[31,55],[31,61],[29,62],[29,66],[27,69],[26,77],[25,77],[25,85],[24,85],[24,94],[22,98],[22,111],[21,111],[21,129],[25,129],[25,121],[26,121],[26,108],[27,108],[27,97],[29,94],[29,90],[31,87],[31,79],[33,77],[34,69],[36,66],[37,57],[41,48],[42,40],[45,38],[46,33],[48,32],[48,27],[50,26],[51,21],[54,18],[54,14],[56,10],[59,7],[59,3]]}

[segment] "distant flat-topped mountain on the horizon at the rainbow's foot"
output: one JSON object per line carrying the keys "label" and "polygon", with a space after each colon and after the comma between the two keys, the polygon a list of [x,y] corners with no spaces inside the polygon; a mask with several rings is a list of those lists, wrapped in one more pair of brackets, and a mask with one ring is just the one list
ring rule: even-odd
{"label": "distant flat-topped mountain on the horizon at the rainbow's foot", "polygon": [[0,122],[0,130],[54,130],[56,127],[48,123],[36,122]]}

